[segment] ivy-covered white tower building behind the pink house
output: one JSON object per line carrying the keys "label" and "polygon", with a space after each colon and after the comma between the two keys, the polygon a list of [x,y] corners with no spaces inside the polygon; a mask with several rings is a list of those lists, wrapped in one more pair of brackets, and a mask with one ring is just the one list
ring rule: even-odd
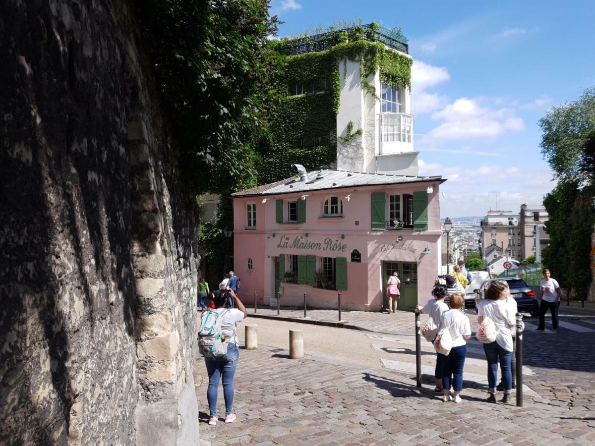
{"label": "ivy-covered white tower building behind the pink house", "polygon": [[371,23],[275,43],[286,56],[258,183],[290,165],[417,175],[407,39]]}

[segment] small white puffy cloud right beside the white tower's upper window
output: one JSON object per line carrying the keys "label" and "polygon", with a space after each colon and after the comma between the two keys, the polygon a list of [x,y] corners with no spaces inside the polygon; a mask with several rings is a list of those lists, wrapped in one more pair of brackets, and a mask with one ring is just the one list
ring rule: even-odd
{"label": "small white puffy cloud right beside the white tower's upper window", "polygon": [[448,99],[446,96],[425,90],[449,79],[446,68],[414,61],[411,67],[411,105],[414,114],[430,113],[443,107]]}

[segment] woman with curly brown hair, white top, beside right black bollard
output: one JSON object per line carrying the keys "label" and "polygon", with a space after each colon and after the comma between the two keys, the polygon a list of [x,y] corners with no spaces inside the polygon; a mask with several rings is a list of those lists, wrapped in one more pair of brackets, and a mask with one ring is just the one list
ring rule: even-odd
{"label": "woman with curly brown hair, white top, beside right black bollard", "polygon": [[[487,401],[489,403],[496,403],[498,360],[500,360],[502,388],[504,390],[501,401],[502,403],[509,403],[511,398],[511,360],[513,351],[511,328],[515,326],[516,315],[512,313],[511,307],[506,302],[509,294],[510,289],[506,281],[491,282],[484,295],[484,300],[477,307],[477,322],[480,323],[478,339],[484,343],[487,359],[487,381],[488,392],[490,392]],[[487,319],[491,319],[495,326],[496,340],[493,342],[486,342],[486,340],[480,338],[480,333],[484,332],[484,328],[491,325]]]}

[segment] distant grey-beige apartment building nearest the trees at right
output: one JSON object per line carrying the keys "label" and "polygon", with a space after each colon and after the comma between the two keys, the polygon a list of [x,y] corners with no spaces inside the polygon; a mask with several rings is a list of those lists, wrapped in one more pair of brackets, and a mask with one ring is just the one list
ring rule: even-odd
{"label": "distant grey-beige apartment building nearest the trees at right", "polygon": [[521,205],[519,238],[521,252],[520,260],[529,256],[536,256],[537,261],[541,258],[544,247],[549,245],[550,236],[544,229],[544,223],[548,220],[546,207],[542,205]]}

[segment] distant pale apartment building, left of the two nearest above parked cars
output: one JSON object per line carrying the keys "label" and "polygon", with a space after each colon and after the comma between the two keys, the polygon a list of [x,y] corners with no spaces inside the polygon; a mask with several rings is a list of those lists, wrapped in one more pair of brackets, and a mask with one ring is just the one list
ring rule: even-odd
{"label": "distant pale apartment building, left of the two nearest above parked cars", "polygon": [[513,259],[521,259],[521,232],[519,230],[519,214],[512,211],[488,211],[481,220],[480,255],[486,264],[488,248],[496,245],[502,249],[503,255]]}

